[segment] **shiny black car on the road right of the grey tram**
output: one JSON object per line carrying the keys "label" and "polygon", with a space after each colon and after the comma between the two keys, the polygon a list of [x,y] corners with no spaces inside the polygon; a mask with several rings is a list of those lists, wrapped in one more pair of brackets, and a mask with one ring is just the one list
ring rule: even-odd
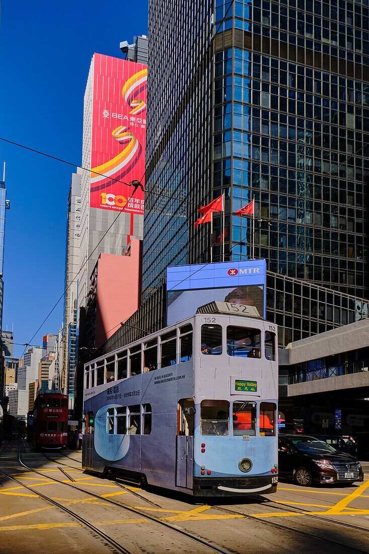
{"label": "shiny black car on the road right of the grey tram", "polygon": [[278,438],[278,473],[296,484],[353,483],[363,481],[360,462],[339,452],[323,440],[309,435],[283,435]]}

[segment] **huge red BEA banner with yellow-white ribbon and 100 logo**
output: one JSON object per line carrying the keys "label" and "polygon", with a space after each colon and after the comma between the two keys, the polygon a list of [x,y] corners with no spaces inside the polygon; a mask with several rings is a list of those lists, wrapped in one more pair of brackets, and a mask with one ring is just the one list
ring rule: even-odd
{"label": "huge red BEA banner with yellow-white ribbon and 100 logo", "polygon": [[[94,54],[90,207],[143,214],[147,66]],[[127,202],[129,201],[129,202]]]}

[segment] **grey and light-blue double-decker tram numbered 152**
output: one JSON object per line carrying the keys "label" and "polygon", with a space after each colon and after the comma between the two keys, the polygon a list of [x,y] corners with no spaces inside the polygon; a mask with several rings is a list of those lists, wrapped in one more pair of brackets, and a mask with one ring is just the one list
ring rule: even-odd
{"label": "grey and light-blue double-decker tram numbered 152", "polygon": [[84,468],[194,496],[274,493],[277,352],[254,307],[214,301],[89,362]]}

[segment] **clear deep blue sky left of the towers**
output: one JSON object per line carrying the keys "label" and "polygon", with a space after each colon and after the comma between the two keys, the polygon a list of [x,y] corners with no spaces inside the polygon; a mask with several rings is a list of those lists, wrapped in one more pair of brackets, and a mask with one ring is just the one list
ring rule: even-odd
{"label": "clear deep blue sky left of the towers", "polygon": [[[2,0],[0,136],[81,162],[83,96],[94,52],[147,34],[147,0]],[[3,329],[29,342],[63,294],[66,203],[73,168],[0,141],[7,198]],[[1,167],[2,173],[2,167]],[[63,301],[33,344],[57,333]],[[21,355],[22,346],[14,346]]]}

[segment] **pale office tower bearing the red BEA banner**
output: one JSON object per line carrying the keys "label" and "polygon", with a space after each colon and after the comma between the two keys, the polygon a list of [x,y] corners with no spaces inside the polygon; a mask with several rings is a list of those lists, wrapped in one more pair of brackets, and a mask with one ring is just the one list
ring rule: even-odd
{"label": "pale office tower bearing the red BEA banner", "polygon": [[84,100],[82,166],[91,173],[81,181],[78,309],[86,306],[99,255],[122,255],[131,237],[142,239],[146,81],[144,64],[93,56]]}

